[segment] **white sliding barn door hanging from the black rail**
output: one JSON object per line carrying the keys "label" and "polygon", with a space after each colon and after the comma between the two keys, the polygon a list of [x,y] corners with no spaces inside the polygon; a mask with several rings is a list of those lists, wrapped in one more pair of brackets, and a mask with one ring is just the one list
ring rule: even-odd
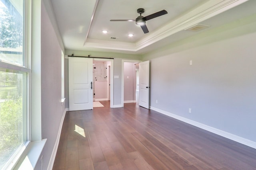
{"label": "white sliding barn door hanging from the black rail", "polygon": [[68,58],[69,110],[93,109],[92,59]]}

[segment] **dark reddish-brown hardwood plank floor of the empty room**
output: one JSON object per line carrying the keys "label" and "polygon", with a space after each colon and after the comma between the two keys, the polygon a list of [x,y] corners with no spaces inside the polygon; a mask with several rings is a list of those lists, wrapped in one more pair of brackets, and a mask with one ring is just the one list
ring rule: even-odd
{"label": "dark reddish-brown hardwood plank floor of the empty room", "polygon": [[53,170],[256,170],[256,149],[136,104],[101,103],[66,113]]}

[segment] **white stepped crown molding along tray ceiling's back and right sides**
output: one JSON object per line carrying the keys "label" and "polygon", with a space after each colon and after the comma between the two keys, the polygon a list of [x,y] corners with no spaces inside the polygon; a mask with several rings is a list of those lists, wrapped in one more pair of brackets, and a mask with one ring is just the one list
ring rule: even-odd
{"label": "white stepped crown molding along tray ceiling's back and right sides", "polygon": [[136,43],[125,43],[99,39],[86,39],[84,47],[113,49],[122,51],[138,51],[157,41],[160,41],[179,31],[183,31],[197,23],[207,20],[248,0],[209,0],[208,2],[194,8],[190,12],[170,21],[160,29],[153,31],[148,36]]}

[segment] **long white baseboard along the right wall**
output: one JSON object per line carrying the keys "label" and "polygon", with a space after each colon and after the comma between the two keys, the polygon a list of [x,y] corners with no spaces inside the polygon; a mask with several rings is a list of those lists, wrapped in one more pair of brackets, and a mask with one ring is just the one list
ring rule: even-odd
{"label": "long white baseboard along the right wall", "polygon": [[206,131],[209,131],[209,132],[212,132],[212,133],[215,133],[217,135],[220,135],[222,137],[225,137],[227,139],[230,139],[232,141],[236,141],[238,143],[241,143],[243,145],[246,145],[248,147],[252,147],[254,149],[256,149],[256,142],[254,141],[250,141],[248,139],[245,139],[245,138],[242,138],[242,137],[239,137],[239,136],[236,136],[234,134],[231,134],[231,133],[228,133],[228,132],[225,132],[225,131],[222,131],[220,129],[216,129],[214,127],[210,127],[208,125],[204,125],[202,123],[199,123],[197,121],[193,121],[193,120],[190,120],[190,119],[187,119],[185,117],[181,117],[181,116],[178,116],[178,115],[175,115],[173,113],[170,113],[170,112],[167,112],[167,111],[164,111],[164,110],[161,110],[161,109],[158,109],[156,107],[150,107],[150,109],[154,110],[154,111],[157,111],[159,113],[162,113],[164,115],[167,115],[167,116],[170,116],[170,117],[173,117],[174,119],[178,119],[180,121],[183,121],[183,122],[186,122],[190,125],[193,125],[193,126],[196,126],[196,127],[199,127],[201,129],[204,129]]}

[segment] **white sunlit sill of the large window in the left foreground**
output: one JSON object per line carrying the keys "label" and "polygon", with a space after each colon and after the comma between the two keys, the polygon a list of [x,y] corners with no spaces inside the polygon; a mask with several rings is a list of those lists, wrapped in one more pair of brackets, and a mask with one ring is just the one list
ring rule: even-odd
{"label": "white sunlit sill of the large window in the left foreground", "polygon": [[17,164],[15,170],[34,170],[36,163],[39,160],[39,157],[44,149],[44,145],[47,139],[42,139],[42,141],[31,142],[28,148],[28,153],[25,155],[25,158],[21,160],[21,164]]}

